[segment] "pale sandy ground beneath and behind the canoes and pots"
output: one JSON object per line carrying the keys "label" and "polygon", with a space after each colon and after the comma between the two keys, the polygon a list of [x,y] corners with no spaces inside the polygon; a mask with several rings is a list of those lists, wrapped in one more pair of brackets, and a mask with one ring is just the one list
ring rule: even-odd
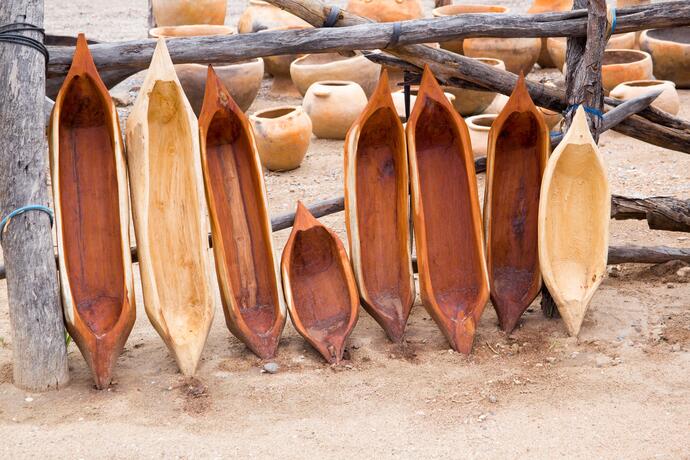
{"label": "pale sandy ground beneath and behind the canoes and pots", "polygon": [[[48,0],[47,28],[101,40],[144,37],[144,4]],[[554,75],[533,78],[540,76]],[[136,85],[133,79],[119,90]],[[299,104],[270,97],[269,85],[250,112]],[[690,91],[682,101],[688,118]],[[601,146],[615,193],[690,198],[687,155],[616,133]],[[300,169],[267,173],[266,184],[273,215],[298,199],[341,194],[342,143],[314,139]],[[345,239],[342,214],[323,222]],[[287,236],[276,234],[278,251]],[[690,244],[631,221],[612,222],[611,243]],[[325,365],[288,324],[275,375],[261,373],[263,363],[230,335],[218,309],[194,382],[177,372],[148,322],[137,272],[138,319],[112,387],[93,388],[71,345],[71,384],[47,394],[11,384],[3,281],[0,457],[690,458],[690,284],[678,268],[615,267],[579,339],[544,318],[538,302],[506,336],[488,306],[469,357],[448,350],[420,305],[404,348],[362,311],[350,360],[340,367]]]}

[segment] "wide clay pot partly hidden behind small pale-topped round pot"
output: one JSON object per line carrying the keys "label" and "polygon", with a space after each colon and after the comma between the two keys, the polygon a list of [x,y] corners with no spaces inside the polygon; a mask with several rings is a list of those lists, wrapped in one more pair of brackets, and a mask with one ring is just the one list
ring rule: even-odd
{"label": "wide clay pot partly hidden behind small pale-topped round pot", "polygon": [[317,81],[352,81],[357,83],[367,97],[371,96],[379,82],[381,65],[364,56],[344,57],[338,53],[308,54],[290,66],[292,81],[302,95]]}

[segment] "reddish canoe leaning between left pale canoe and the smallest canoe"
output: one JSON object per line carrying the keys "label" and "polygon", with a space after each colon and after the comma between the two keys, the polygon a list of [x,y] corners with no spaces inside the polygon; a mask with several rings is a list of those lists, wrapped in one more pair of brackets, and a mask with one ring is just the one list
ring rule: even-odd
{"label": "reddish canoe leaning between left pale canoe and the smallest canoe", "polygon": [[261,162],[249,120],[211,66],[199,133],[225,321],[260,358],[272,358],[285,304]]}

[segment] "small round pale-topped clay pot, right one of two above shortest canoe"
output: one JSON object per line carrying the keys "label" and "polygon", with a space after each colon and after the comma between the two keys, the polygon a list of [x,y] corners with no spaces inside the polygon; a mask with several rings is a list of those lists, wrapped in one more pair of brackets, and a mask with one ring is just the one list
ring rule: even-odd
{"label": "small round pale-topped clay pot, right one of two above shortest canoe", "polygon": [[351,81],[322,81],[309,87],[302,107],[321,139],[345,139],[352,123],[367,105],[367,96]]}

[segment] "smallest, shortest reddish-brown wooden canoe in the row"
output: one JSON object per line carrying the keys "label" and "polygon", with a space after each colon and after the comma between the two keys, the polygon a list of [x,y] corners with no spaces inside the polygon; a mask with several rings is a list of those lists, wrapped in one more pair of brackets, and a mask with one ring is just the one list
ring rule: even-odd
{"label": "smallest, shortest reddish-brown wooden canoe in the row", "polygon": [[301,202],[281,260],[295,329],[331,364],[343,359],[357,323],[359,294],[345,247]]}

